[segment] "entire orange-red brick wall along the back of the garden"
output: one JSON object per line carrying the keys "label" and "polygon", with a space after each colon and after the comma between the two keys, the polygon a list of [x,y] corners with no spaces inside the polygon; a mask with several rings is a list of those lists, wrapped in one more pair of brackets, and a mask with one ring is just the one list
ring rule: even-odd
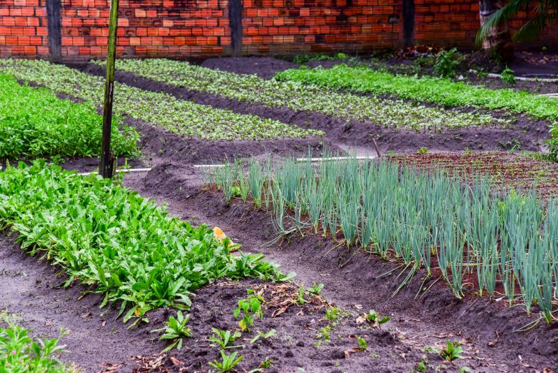
{"label": "entire orange-red brick wall along the back of the garden", "polygon": [[[47,57],[47,0],[0,0],[0,56]],[[476,0],[414,0],[417,44],[473,47]],[[109,0],[61,0],[63,58],[103,57]],[[121,0],[128,57],[231,52],[228,0]],[[525,16],[525,15],[522,15]],[[518,27],[520,21],[512,22]],[[243,0],[242,52],[370,52],[403,43],[402,0]],[[558,47],[558,27],[538,41]]]}

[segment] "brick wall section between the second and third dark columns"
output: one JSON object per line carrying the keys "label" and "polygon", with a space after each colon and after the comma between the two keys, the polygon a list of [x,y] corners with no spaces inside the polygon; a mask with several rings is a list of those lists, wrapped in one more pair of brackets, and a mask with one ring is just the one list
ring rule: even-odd
{"label": "brick wall section between the second and third dark columns", "polygon": [[398,47],[401,0],[244,0],[246,54]]}

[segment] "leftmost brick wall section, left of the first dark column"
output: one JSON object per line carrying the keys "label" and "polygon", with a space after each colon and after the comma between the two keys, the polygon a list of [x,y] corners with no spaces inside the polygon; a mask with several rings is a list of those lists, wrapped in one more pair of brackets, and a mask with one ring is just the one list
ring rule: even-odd
{"label": "leftmost brick wall section, left of the first dark column", "polygon": [[0,0],[0,56],[49,54],[45,0]]}

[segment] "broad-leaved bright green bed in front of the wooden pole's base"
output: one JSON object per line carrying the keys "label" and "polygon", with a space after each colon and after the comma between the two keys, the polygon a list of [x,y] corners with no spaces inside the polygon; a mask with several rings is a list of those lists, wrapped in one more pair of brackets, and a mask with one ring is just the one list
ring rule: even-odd
{"label": "broad-leaved bright green bed in front of the wooden pole's base", "polygon": [[194,228],[165,207],[100,176],[80,177],[35,161],[0,172],[0,228],[74,281],[119,304],[127,322],[158,307],[186,310],[190,292],[221,278],[282,276],[261,254],[232,255],[207,226]]}

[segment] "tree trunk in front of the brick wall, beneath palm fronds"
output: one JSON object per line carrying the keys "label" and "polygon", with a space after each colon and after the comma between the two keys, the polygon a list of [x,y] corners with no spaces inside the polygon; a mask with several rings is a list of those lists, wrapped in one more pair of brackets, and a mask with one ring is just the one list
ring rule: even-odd
{"label": "tree trunk in front of the brick wall, beneath palm fronds", "polygon": [[[480,0],[479,13],[481,15],[481,27],[486,20],[502,8],[500,0]],[[511,42],[511,32],[508,24],[502,22],[497,27],[490,29],[488,36],[483,41],[483,50],[490,56],[500,59],[502,62],[509,62],[513,59],[513,43]]]}

